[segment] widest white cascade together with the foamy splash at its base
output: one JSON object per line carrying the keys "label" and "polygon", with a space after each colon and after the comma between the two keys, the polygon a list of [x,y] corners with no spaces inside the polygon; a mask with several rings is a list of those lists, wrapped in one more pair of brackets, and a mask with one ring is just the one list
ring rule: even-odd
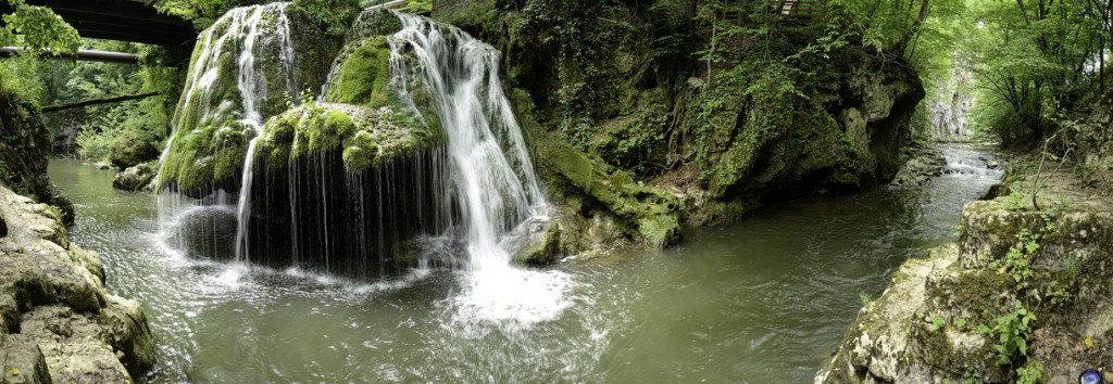
{"label": "widest white cascade together with the foamy splash at its base", "polygon": [[462,325],[554,319],[567,306],[562,294],[568,276],[514,269],[502,245],[520,235],[515,230],[523,223],[543,218],[546,202],[503,94],[499,51],[456,28],[395,16],[403,27],[390,40],[394,85],[402,88],[404,103],[413,100],[404,80],[406,58],[415,58],[447,138],[447,184],[463,221],[469,259],[464,292],[451,303],[454,319]]}

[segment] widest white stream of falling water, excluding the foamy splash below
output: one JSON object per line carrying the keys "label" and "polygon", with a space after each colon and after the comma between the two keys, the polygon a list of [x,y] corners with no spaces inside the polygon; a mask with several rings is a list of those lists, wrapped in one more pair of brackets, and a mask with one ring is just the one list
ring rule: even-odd
{"label": "widest white stream of falling water, excluding the foamy splash below", "polygon": [[[503,94],[500,53],[456,28],[395,14],[403,27],[391,39],[394,79],[405,79],[405,57],[415,57],[447,137],[449,184],[464,221],[469,267],[506,265],[510,255],[500,241],[526,219],[543,215],[545,201]],[[406,84],[396,81],[395,87]],[[410,91],[402,99],[412,105]]]}

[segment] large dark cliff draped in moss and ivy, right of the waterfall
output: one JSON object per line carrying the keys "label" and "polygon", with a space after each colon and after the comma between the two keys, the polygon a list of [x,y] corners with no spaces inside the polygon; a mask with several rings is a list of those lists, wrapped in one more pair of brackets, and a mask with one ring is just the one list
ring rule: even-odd
{"label": "large dark cliff draped in moss and ivy, right of the waterfall", "polygon": [[[434,17],[502,50],[508,82],[524,91],[515,108],[534,115],[536,132],[679,195],[686,224],[733,220],[767,199],[860,191],[896,174],[924,97],[907,65],[855,44],[810,54],[816,36],[805,26],[779,29],[765,44],[720,37],[721,62],[707,67],[688,60],[691,42],[710,38],[692,28],[693,9],[687,0],[471,0],[439,2]],[[595,19],[622,21],[582,22]]]}

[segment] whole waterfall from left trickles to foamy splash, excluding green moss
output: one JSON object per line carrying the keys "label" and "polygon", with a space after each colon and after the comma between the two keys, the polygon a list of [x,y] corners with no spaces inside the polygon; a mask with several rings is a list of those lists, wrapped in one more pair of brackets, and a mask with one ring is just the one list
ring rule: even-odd
{"label": "whole waterfall from left trickles to foamy splash, excluding green moss", "polygon": [[[375,145],[376,151],[390,154],[356,173],[346,169],[344,146],[273,158],[277,140],[305,145],[299,140],[305,140],[302,134],[306,133],[279,139],[270,131],[276,125],[265,122],[280,113],[276,104],[297,104],[297,91],[303,88],[298,73],[314,75],[312,70],[297,71],[297,61],[308,62],[303,59],[308,51],[304,43],[294,49],[292,34],[303,37],[302,32],[293,33],[287,6],[234,9],[198,40],[167,153],[178,148],[187,154],[175,163],[185,164],[180,169],[186,173],[215,166],[215,161],[227,164],[220,153],[235,153],[237,161],[244,146],[246,153],[238,180],[228,174],[227,166],[219,176],[210,169],[210,184],[181,189],[196,201],[167,194],[164,210],[160,195],[160,218],[173,218],[173,225],[166,226],[181,240],[177,244],[181,253],[230,253],[245,263],[277,267],[304,264],[356,277],[385,277],[405,265],[462,264],[464,267],[454,269],[453,275],[462,279],[463,292],[445,302],[452,307],[449,317],[453,321],[530,324],[555,317],[568,305],[563,292],[570,279],[561,272],[511,265],[512,249],[536,226],[533,223],[548,220],[548,203],[499,79],[500,52],[451,26],[378,11],[401,21],[400,29],[377,40],[390,46],[388,87],[397,103],[371,108],[326,103],[321,98],[318,103],[283,117],[343,112],[358,122],[359,134],[388,134],[376,137],[383,141]],[[304,18],[293,11],[289,16]],[[361,17],[349,34],[351,47],[359,47],[355,44],[367,38],[361,33],[386,32],[381,28],[376,33],[374,24],[375,19]],[[361,28],[367,30],[357,32]],[[333,79],[344,62],[337,59],[327,79]],[[306,78],[306,85],[316,83]],[[325,82],[322,94],[328,94],[331,83]],[[288,95],[276,99],[284,91]],[[380,132],[378,124],[384,121],[374,120],[380,113],[386,115],[383,119],[412,114],[417,128],[384,120],[386,127],[401,131]],[[421,124],[433,123],[439,127],[425,128],[439,129],[440,134],[422,139],[429,140],[421,144],[424,146],[392,144],[410,140],[411,134],[430,135]],[[179,130],[189,131],[179,134]],[[188,152],[190,144],[215,148],[209,140],[219,143],[217,137],[227,140],[240,131],[238,144],[250,140],[235,148],[237,152],[206,152],[206,158],[196,159]],[[392,152],[391,145],[403,149]],[[290,146],[290,151],[295,149],[304,148]],[[173,162],[169,158],[173,155],[164,154],[164,163]],[[183,174],[175,174],[179,182],[188,176]],[[234,191],[237,184],[235,196],[224,192]],[[227,223],[236,229],[234,239]],[[412,253],[414,250],[418,252]],[[466,260],[460,263],[459,259]]]}

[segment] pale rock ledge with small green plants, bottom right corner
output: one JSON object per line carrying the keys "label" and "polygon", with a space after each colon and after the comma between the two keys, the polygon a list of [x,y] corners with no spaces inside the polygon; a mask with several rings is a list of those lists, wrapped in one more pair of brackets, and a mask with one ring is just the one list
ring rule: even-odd
{"label": "pale rock ledge with small green plants, bottom right corner", "polygon": [[1113,200],[1045,171],[1033,205],[1035,169],[1013,163],[958,243],[905,262],[816,382],[1066,383],[1110,361]]}

